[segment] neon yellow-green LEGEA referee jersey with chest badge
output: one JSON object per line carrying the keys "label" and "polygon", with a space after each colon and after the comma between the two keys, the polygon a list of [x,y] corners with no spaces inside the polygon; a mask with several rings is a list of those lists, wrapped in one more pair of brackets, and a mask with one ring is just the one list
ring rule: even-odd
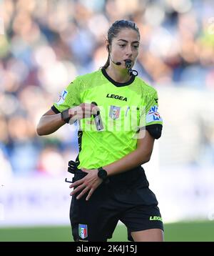
{"label": "neon yellow-green LEGEA referee jersey with chest badge", "polygon": [[136,149],[139,129],[162,127],[156,89],[134,76],[126,83],[115,82],[106,69],[76,77],[52,109],[59,113],[91,102],[100,109],[103,129],[96,129],[93,117],[79,121],[76,162],[80,169],[95,169],[121,159]]}

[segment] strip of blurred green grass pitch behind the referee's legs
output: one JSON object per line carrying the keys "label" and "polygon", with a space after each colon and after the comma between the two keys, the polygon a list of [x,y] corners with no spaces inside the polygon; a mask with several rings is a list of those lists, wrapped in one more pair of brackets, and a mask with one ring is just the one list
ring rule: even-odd
{"label": "strip of blurred green grass pitch behind the referee's legs", "polygon": [[[73,241],[70,227],[20,227],[0,228],[0,241]],[[127,234],[124,225],[118,225],[111,242],[126,242]],[[214,221],[178,222],[165,224],[165,241],[168,242],[214,242]]]}

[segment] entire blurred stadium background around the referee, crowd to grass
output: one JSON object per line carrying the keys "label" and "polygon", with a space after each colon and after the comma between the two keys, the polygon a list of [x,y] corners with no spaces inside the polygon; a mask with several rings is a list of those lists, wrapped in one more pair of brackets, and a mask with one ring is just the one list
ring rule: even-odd
{"label": "entire blurred stadium background around the referee, crowd to grass", "polygon": [[[0,241],[69,241],[67,162],[76,127],[36,124],[78,74],[107,58],[113,21],[141,31],[139,76],[163,136],[145,164],[166,241],[214,241],[214,1],[0,0]],[[113,240],[126,241],[118,225]]]}

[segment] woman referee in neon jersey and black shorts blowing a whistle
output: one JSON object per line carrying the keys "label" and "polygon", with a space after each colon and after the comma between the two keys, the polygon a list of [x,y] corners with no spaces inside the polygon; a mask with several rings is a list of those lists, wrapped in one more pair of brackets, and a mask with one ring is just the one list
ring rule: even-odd
{"label": "woman referee in neon jersey and black shorts blowing a whistle", "polygon": [[162,119],[156,89],[132,69],[139,44],[134,22],[114,22],[108,29],[106,64],[76,77],[37,126],[37,133],[46,135],[63,124],[79,124],[70,186],[74,241],[105,242],[118,220],[126,225],[128,240],[163,241],[158,201],[141,167],[161,137]]}

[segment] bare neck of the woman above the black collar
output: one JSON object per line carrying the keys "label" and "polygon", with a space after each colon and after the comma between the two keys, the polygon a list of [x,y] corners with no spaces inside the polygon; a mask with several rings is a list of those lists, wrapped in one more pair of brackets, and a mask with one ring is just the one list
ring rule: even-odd
{"label": "bare neck of the woman above the black collar", "polygon": [[110,64],[107,67],[106,72],[109,77],[119,83],[126,83],[131,79],[127,69],[121,69],[121,67],[117,67],[116,64]]}

